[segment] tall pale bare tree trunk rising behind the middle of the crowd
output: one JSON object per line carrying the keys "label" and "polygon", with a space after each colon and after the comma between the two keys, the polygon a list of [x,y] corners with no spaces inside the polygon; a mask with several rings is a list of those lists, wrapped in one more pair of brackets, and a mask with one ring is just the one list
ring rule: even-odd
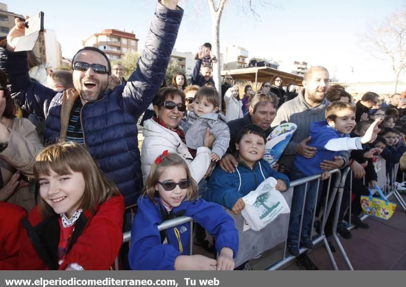
{"label": "tall pale bare tree trunk rising behind the middle of the crowd", "polygon": [[[220,20],[227,3],[237,3],[241,11],[246,15],[253,15],[254,19],[259,20],[260,16],[256,12],[257,5],[270,5],[269,1],[264,0],[207,0],[212,17],[212,45],[213,54],[220,59]],[[218,91],[221,94],[221,67],[220,60],[213,64],[213,79]]]}

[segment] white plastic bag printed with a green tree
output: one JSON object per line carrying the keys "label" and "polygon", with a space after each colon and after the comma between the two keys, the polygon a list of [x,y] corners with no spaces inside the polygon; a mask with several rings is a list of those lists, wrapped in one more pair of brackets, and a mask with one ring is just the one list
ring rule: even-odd
{"label": "white plastic bag printed with a green tree", "polygon": [[269,177],[243,197],[245,208],[241,214],[253,230],[259,231],[280,214],[290,213],[285,198],[275,189],[276,184],[276,179]]}

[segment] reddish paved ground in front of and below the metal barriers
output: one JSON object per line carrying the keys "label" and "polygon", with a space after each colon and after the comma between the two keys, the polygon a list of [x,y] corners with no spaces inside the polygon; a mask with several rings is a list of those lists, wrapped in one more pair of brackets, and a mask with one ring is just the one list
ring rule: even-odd
{"label": "reddish paved ground in front of and below the metal barriers", "polygon": [[[368,217],[365,222],[369,229],[352,229],[352,238],[348,240],[340,237],[354,270],[406,270],[406,213],[398,206],[387,221]],[[333,244],[337,250],[333,253],[337,266],[348,270],[335,242]],[[251,266],[254,270],[264,270],[281,258],[282,248],[280,244],[259,259],[251,260]],[[309,252],[309,257],[320,270],[333,270],[324,245]],[[285,270],[302,270],[302,267],[293,262]]]}

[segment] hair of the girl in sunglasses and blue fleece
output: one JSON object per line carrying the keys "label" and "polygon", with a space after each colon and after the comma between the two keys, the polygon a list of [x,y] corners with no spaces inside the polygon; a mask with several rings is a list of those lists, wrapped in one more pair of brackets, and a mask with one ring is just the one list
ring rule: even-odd
{"label": "hair of the girl in sunglasses and blue fleece", "polygon": [[[159,158],[161,156],[158,156]],[[155,202],[155,197],[159,197],[158,191],[155,189],[155,185],[159,181],[163,170],[170,167],[182,167],[186,171],[187,179],[190,179],[192,184],[189,185],[186,191],[186,200],[193,201],[197,199],[197,183],[192,178],[186,161],[176,153],[169,153],[162,157],[162,160],[157,164],[155,161],[152,163],[151,171],[148,175],[147,181],[144,186],[143,194],[148,196],[148,198]]]}

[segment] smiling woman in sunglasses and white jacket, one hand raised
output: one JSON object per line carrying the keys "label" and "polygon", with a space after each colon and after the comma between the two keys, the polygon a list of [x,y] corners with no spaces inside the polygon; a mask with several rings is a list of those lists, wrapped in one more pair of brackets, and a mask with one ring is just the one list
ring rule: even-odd
{"label": "smiling woman in sunglasses and white jacket, one hand raised", "polygon": [[187,163],[192,178],[199,182],[204,178],[211,161],[211,146],[214,136],[206,131],[204,146],[197,148],[193,159],[179,127],[186,110],[185,94],[176,88],[162,88],[152,101],[155,115],[144,122],[144,141],[141,148],[141,168],[144,183],[150,173],[155,158],[164,150],[179,154]]}

